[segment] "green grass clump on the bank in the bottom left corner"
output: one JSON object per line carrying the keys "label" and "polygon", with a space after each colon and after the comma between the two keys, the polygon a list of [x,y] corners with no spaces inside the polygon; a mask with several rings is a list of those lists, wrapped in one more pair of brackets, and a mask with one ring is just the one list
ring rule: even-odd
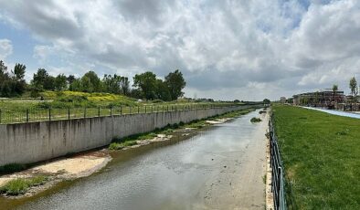
{"label": "green grass clump on the bank in the bottom left corner", "polygon": [[26,194],[27,190],[30,187],[45,184],[47,180],[48,177],[43,175],[39,175],[33,178],[26,178],[26,179],[18,178],[0,187],[0,194],[6,194],[6,195]]}

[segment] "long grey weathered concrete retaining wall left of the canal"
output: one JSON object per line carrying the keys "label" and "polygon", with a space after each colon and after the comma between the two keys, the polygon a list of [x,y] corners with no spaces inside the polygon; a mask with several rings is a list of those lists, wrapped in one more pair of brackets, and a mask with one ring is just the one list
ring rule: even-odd
{"label": "long grey weathered concrete retaining wall left of the canal", "polygon": [[[254,106],[175,110],[0,125],[0,165],[46,161],[69,153],[108,145],[114,137],[122,138],[163,128],[167,124],[205,119],[250,107]],[[260,107],[260,105],[255,107]]]}

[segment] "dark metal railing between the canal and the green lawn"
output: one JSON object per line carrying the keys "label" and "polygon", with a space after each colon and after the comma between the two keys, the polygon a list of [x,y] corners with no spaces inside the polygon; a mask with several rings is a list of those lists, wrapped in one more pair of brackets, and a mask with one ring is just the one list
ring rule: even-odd
{"label": "dark metal railing between the canal and the green lawn", "polygon": [[271,192],[274,199],[275,210],[287,209],[285,200],[285,179],[284,168],[281,161],[281,154],[279,150],[278,138],[274,129],[273,115],[269,122],[270,131],[270,165],[271,173]]}

